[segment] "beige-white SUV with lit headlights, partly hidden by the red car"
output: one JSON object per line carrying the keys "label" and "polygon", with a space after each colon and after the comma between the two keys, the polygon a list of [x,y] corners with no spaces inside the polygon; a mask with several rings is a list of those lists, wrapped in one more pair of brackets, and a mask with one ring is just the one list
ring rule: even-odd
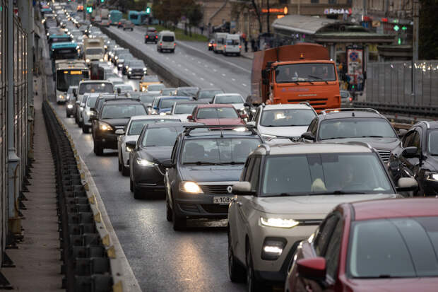
{"label": "beige-white SUV with lit headlights, partly hidden by the red car", "polygon": [[379,153],[367,144],[263,144],[249,154],[228,209],[231,281],[247,276],[248,291],[285,281],[301,240],[336,205],[399,197]]}

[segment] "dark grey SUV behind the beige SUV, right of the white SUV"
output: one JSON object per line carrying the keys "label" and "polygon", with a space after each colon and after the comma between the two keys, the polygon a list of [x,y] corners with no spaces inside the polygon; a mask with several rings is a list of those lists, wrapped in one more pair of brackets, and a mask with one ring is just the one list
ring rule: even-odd
{"label": "dark grey SUV behind the beige SUV, right of the white SUV", "polygon": [[371,108],[323,110],[302,134],[307,142],[365,142],[376,148],[385,163],[391,151],[401,147],[395,129],[384,115]]}

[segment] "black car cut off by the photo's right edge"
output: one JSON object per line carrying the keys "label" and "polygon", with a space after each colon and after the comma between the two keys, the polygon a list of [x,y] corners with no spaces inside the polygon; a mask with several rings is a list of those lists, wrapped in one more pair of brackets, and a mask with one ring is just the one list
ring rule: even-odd
{"label": "black car cut off by the photo's right edge", "polygon": [[394,180],[413,177],[415,196],[438,195],[438,122],[418,122],[401,139],[403,148],[391,155],[389,170]]}

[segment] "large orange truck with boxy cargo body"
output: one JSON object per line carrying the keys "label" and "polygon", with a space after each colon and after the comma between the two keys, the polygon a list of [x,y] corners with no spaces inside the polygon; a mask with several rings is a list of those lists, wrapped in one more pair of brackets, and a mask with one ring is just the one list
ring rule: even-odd
{"label": "large orange truck with boxy cargo body", "polygon": [[318,112],[341,107],[336,64],[325,47],[310,43],[255,52],[251,94],[259,103],[308,102]]}

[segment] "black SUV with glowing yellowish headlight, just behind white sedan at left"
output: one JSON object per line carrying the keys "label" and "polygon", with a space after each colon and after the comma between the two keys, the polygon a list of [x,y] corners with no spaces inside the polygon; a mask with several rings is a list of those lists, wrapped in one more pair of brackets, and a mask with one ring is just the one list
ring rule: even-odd
{"label": "black SUV with glowing yellowish headlight, just behind white sedan at left", "polygon": [[[117,137],[134,115],[146,115],[146,107],[140,100],[106,100],[97,115],[91,115],[93,121],[94,153],[103,154],[105,148],[117,149]],[[122,131],[117,131],[122,130]]]}

